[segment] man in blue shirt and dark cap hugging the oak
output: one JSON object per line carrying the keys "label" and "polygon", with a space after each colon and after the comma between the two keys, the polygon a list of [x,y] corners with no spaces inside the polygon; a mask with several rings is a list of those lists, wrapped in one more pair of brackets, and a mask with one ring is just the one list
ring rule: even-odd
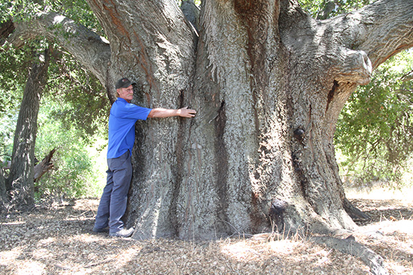
{"label": "man in blue shirt and dark cap hugging the oak", "polygon": [[147,109],[131,104],[134,97],[134,83],[122,78],[116,83],[116,96],[109,115],[109,144],[107,148],[107,183],[100,197],[94,232],[107,232],[109,236],[129,237],[134,228],[124,228],[120,219],[125,214],[127,193],[132,177],[131,153],[135,141],[135,123],[147,118],[168,118],[180,116],[192,118],[195,110]]}

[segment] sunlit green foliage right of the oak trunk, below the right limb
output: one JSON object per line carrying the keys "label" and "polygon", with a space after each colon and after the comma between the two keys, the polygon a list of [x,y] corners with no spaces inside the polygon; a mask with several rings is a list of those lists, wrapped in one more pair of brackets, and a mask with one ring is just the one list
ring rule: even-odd
{"label": "sunlit green foliage right of the oak trunk, below the right limb", "polygon": [[335,136],[341,166],[355,186],[382,180],[402,184],[413,152],[413,52],[381,65],[341,111]]}

